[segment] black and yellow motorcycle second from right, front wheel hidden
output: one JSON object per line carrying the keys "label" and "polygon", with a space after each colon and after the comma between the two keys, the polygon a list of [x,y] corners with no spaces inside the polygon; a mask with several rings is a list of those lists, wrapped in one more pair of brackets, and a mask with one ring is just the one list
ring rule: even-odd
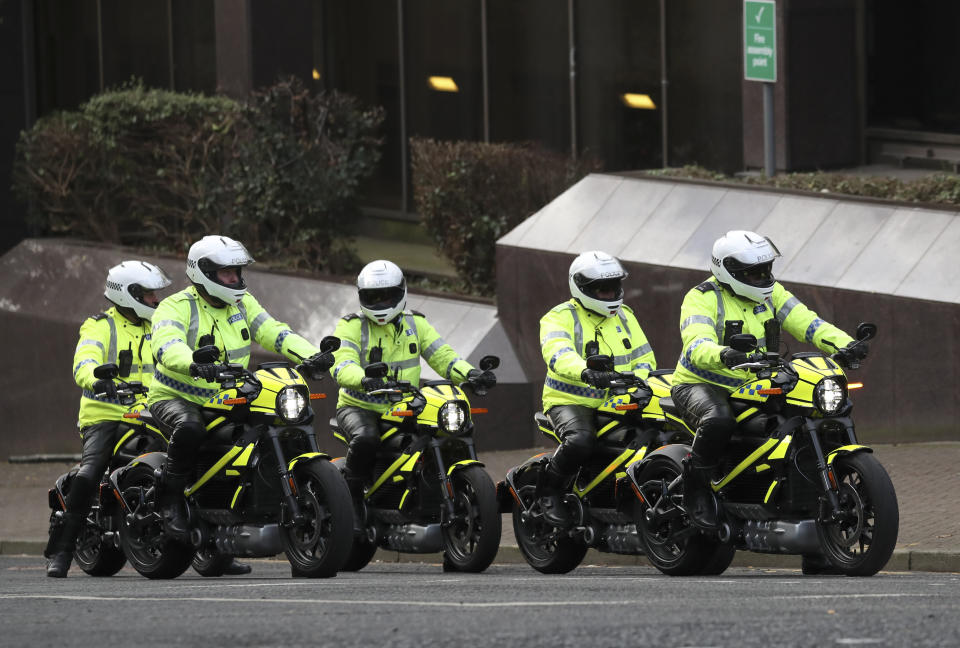
{"label": "black and yellow motorcycle second from right, front wheel hidden", "polygon": [[[587,357],[589,368],[613,369],[610,356],[596,355],[589,345],[587,353],[592,353]],[[540,497],[551,453],[534,455],[498,484],[501,511],[513,514],[517,545],[531,567],[544,574],[565,574],[583,561],[589,548],[642,553],[633,495],[622,478],[651,448],[691,438],[685,428],[671,425],[660,408],[661,399],[670,395],[672,375],[672,370],[653,371],[644,381],[623,372],[611,383],[607,400],[597,408],[597,448],[563,498],[573,518],[571,526],[559,528],[543,517]],[[560,445],[546,415],[537,412],[534,421],[544,436]]]}

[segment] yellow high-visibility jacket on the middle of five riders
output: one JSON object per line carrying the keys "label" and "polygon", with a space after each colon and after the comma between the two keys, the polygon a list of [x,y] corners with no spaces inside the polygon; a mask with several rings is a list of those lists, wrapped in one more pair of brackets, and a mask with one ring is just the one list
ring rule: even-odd
{"label": "yellow high-visibility jacket on the middle of five riders", "polygon": [[420,384],[421,356],[434,371],[456,384],[473,369],[417,311],[403,311],[386,324],[371,322],[362,313],[351,313],[337,322],[334,335],[340,338],[340,348],[334,353],[330,375],[340,385],[338,408],[352,405],[377,412],[389,408],[386,397],[371,396],[360,385],[364,368],[376,360],[371,359],[371,352],[377,347],[382,349],[380,361],[387,363],[390,376],[399,370],[398,379],[414,385]]}

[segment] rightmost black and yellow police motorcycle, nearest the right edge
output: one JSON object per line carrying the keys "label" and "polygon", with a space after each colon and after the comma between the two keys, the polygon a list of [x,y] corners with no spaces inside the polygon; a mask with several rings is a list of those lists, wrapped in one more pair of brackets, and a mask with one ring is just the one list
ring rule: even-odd
{"label": "rightmost black and yellow police motorcycle, nearest the right edge", "polygon": [[[779,326],[766,328],[767,348],[779,349]],[[858,342],[876,330],[861,324]],[[750,352],[757,342],[735,335],[730,345]],[[862,384],[848,382],[838,364],[845,357],[839,349],[789,359],[768,351],[737,367],[754,376],[730,395],[738,429],[722,476],[711,482],[717,528],[697,528],[683,508],[689,446],[661,448],[627,469],[640,540],[657,569],[675,576],[722,573],[729,560],[718,561],[718,553],[736,549],[800,554],[804,573],[872,576],[883,568],[897,541],[897,496],[872,450],[857,442],[849,392]],[[682,423],[672,400],[661,405]]]}

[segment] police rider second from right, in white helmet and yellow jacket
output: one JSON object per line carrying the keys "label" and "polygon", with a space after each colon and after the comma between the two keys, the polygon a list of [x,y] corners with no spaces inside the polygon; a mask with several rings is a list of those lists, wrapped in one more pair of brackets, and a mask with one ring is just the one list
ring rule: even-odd
{"label": "police rider second from right, in white helmet and yellow jacket", "polygon": [[540,319],[540,347],[547,363],[543,411],[562,443],[547,467],[540,505],[544,519],[556,526],[570,523],[563,493],[597,445],[596,409],[606,399],[615,372],[588,369],[590,344],[613,356],[616,372],[632,371],[646,378],[656,369],[653,349],[633,311],[623,303],[623,266],[605,252],[584,252],[570,264],[571,299]]}

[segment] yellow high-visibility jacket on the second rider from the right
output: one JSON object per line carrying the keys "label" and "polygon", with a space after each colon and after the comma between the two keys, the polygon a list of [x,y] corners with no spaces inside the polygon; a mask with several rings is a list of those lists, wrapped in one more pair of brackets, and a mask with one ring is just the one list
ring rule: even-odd
{"label": "yellow high-visibility jacket on the second rider from the right", "polygon": [[554,405],[599,407],[606,399],[606,390],[580,380],[587,368],[586,345],[591,340],[597,341],[597,353],[613,356],[616,371],[633,371],[646,378],[657,368],[647,336],[626,304],[615,317],[603,317],[571,299],[540,318],[540,350],[547,363],[544,411]]}

